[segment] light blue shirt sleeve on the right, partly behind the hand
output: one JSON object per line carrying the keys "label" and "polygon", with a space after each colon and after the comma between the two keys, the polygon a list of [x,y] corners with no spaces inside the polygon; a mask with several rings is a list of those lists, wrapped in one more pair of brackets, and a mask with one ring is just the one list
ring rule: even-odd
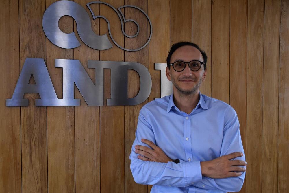
{"label": "light blue shirt sleeve on the right, partly behind the hand", "polygon": [[[243,152],[242,157],[237,157],[232,160],[245,161],[245,153],[240,135],[240,124],[236,111],[229,106],[224,117],[223,142],[221,146],[221,155],[227,155],[233,152]],[[241,166],[244,167],[244,166]],[[246,172],[241,176],[229,178],[209,178],[202,177],[202,180],[192,184],[203,189],[217,189],[225,192],[239,192],[243,186]]]}

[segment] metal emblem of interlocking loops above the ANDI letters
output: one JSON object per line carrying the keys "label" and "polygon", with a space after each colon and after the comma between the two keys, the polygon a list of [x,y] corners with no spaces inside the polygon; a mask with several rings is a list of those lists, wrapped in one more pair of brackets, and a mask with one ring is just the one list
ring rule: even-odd
{"label": "metal emblem of interlocking loops above the ANDI letters", "polygon": [[[126,49],[124,47],[121,47],[114,40],[114,38],[111,34],[110,23],[109,23],[108,19],[104,16],[101,16],[101,15],[95,16],[95,14],[93,13],[90,5],[95,4],[95,3],[108,5],[110,8],[112,8],[112,10],[114,10],[116,12],[116,14],[118,15],[118,17],[121,21],[121,31],[128,38],[134,38],[138,35],[139,25],[133,19],[125,19],[125,16],[123,15],[123,12],[121,12],[121,9],[125,8],[125,7],[132,7],[132,8],[136,8],[136,9],[140,10],[147,17],[149,24],[150,24],[150,36],[149,36],[149,39],[147,40],[147,42],[142,47],[139,47],[137,49]],[[110,5],[108,3],[101,2],[101,1],[93,1],[93,2],[87,3],[86,5],[87,5],[88,9],[90,10],[90,12],[93,16],[93,19],[103,18],[106,20],[106,22],[108,23],[108,32],[109,32],[110,38],[112,39],[114,44],[117,45],[119,48],[126,50],[126,51],[138,51],[138,50],[144,48],[151,40],[151,35],[152,35],[151,20],[149,19],[149,16],[142,9],[140,9],[136,6],[133,6],[133,5],[124,5],[124,6],[117,8],[117,10],[116,10],[112,5]],[[90,17],[88,15],[88,13],[86,12],[86,10],[83,7],[81,7],[79,4],[77,4],[73,1],[57,1],[53,4],[51,4],[47,8],[45,13],[43,14],[43,19],[42,19],[43,31],[44,31],[46,37],[53,44],[55,44],[59,47],[62,47],[62,48],[66,48],[66,49],[76,48],[76,47],[80,46],[80,43],[77,40],[74,32],[72,32],[70,34],[66,34],[66,33],[62,32],[58,27],[59,19],[65,15],[71,16],[75,19],[78,35],[86,45],[88,45],[89,47],[91,47],[93,49],[98,49],[98,50],[109,49],[112,47],[112,44],[110,43],[107,34],[100,36],[100,35],[97,35],[93,32],[93,30],[91,28],[91,21],[90,21]],[[124,32],[124,23],[126,23],[127,21],[134,22],[138,28],[136,34],[134,34],[133,36],[129,36]]]}

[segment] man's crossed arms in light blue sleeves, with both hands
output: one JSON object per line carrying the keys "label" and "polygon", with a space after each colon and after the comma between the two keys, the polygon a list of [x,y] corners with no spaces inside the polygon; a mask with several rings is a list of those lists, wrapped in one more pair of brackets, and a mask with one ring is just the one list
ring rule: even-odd
{"label": "man's crossed arms in light blue sleeves, with both hands", "polygon": [[[232,129],[224,130],[223,141],[228,139],[230,141],[226,141],[224,143],[226,145],[222,145],[221,155],[223,156],[204,162],[180,160],[180,163],[176,164],[155,145],[153,130],[146,121],[145,113],[141,110],[136,139],[130,155],[131,171],[135,181],[149,185],[176,187],[193,185],[203,189],[239,191],[245,177],[245,168],[242,166],[246,166],[247,163],[242,153],[236,152],[236,150],[243,152],[239,125],[235,120],[237,118],[236,116],[230,118],[237,125],[231,125]],[[234,136],[233,139],[232,136]],[[142,138],[148,140],[141,140]],[[240,157],[238,158],[240,160],[234,160],[237,157]]]}

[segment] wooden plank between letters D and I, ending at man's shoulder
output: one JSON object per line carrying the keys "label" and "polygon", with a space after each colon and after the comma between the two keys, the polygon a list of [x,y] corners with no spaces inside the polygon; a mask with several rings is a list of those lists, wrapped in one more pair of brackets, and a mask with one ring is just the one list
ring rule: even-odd
{"label": "wooden plank between letters D and I, ending at man's shoulder", "polygon": [[[155,63],[166,63],[170,49],[170,1],[148,1],[148,15],[153,26],[153,34],[148,44],[149,73],[152,87],[149,101],[161,97],[161,73],[155,70]],[[150,34],[148,34],[149,36]]]}

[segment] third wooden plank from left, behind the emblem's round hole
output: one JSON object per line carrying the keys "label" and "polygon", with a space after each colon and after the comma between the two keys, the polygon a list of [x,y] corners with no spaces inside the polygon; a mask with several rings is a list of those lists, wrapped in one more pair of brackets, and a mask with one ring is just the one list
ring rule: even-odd
{"label": "third wooden plank from left, behind the emblem's round hole", "polygon": [[[46,1],[46,8],[54,0]],[[73,31],[73,19],[64,16],[60,30]],[[55,59],[73,59],[73,49],[63,49],[46,40],[46,65],[58,98],[62,98],[62,68]],[[75,192],[74,107],[47,107],[48,191]]]}

